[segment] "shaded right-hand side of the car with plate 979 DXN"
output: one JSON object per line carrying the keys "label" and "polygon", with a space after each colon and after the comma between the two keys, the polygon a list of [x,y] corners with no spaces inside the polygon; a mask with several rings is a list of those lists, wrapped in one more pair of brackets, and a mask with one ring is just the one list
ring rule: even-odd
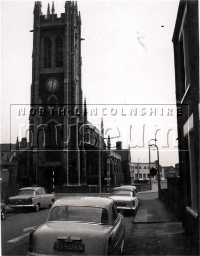
{"label": "shaded right-hand side of the car with plate 979 DXN", "polygon": [[125,224],[123,221],[123,215],[118,214],[115,204],[112,205],[112,216],[115,223],[112,231],[112,252],[113,254],[118,255],[123,240]]}

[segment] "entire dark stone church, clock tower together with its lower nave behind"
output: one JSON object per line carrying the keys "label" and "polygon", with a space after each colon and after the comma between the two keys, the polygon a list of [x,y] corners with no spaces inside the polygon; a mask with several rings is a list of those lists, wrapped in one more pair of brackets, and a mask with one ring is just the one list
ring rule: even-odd
{"label": "entire dark stone church, clock tower together with its lower nave behind", "polygon": [[60,17],[54,2],[46,15],[41,7],[35,2],[28,167],[21,185],[51,191],[54,182],[56,191],[88,192],[99,186],[99,176],[105,189],[122,185],[123,160],[111,150],[109,135],[104,138],[103,119],[99,130],[87,120],[77,2],[66,1]]}

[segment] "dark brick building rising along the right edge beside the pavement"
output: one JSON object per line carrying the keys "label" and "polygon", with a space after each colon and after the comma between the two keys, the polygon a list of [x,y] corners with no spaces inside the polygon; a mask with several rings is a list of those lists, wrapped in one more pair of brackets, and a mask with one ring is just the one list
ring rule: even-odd
{"label": "dark brick building rising along the right edge beside the pavement", "polygon": [[183,226],[199,237],[198,1],[180,1],[173,32]]}

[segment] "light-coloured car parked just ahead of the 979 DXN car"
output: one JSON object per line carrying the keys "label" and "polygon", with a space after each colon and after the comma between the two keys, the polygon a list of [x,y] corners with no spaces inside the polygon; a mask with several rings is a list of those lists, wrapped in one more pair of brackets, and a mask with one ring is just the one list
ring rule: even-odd
{"label": "light-coloured car parked just ahead of the 979 DXN car", "polygon": [[117,209],[131,210],[135,214],[139,205],[136,191],[131,187],[115,187],[110,194]]}

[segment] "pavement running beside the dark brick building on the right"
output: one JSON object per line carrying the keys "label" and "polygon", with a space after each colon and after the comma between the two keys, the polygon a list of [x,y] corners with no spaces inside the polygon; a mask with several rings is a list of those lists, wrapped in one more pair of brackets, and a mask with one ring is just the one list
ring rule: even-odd
{"label": "pavement running beside the dark brick building on the right", "polygon": [[123,255],[199,255],[197,238],[186,236],[167,205],[158,199],[157,184],[152,190],[138,193],[140,205],[133,220],[134,241]]}

